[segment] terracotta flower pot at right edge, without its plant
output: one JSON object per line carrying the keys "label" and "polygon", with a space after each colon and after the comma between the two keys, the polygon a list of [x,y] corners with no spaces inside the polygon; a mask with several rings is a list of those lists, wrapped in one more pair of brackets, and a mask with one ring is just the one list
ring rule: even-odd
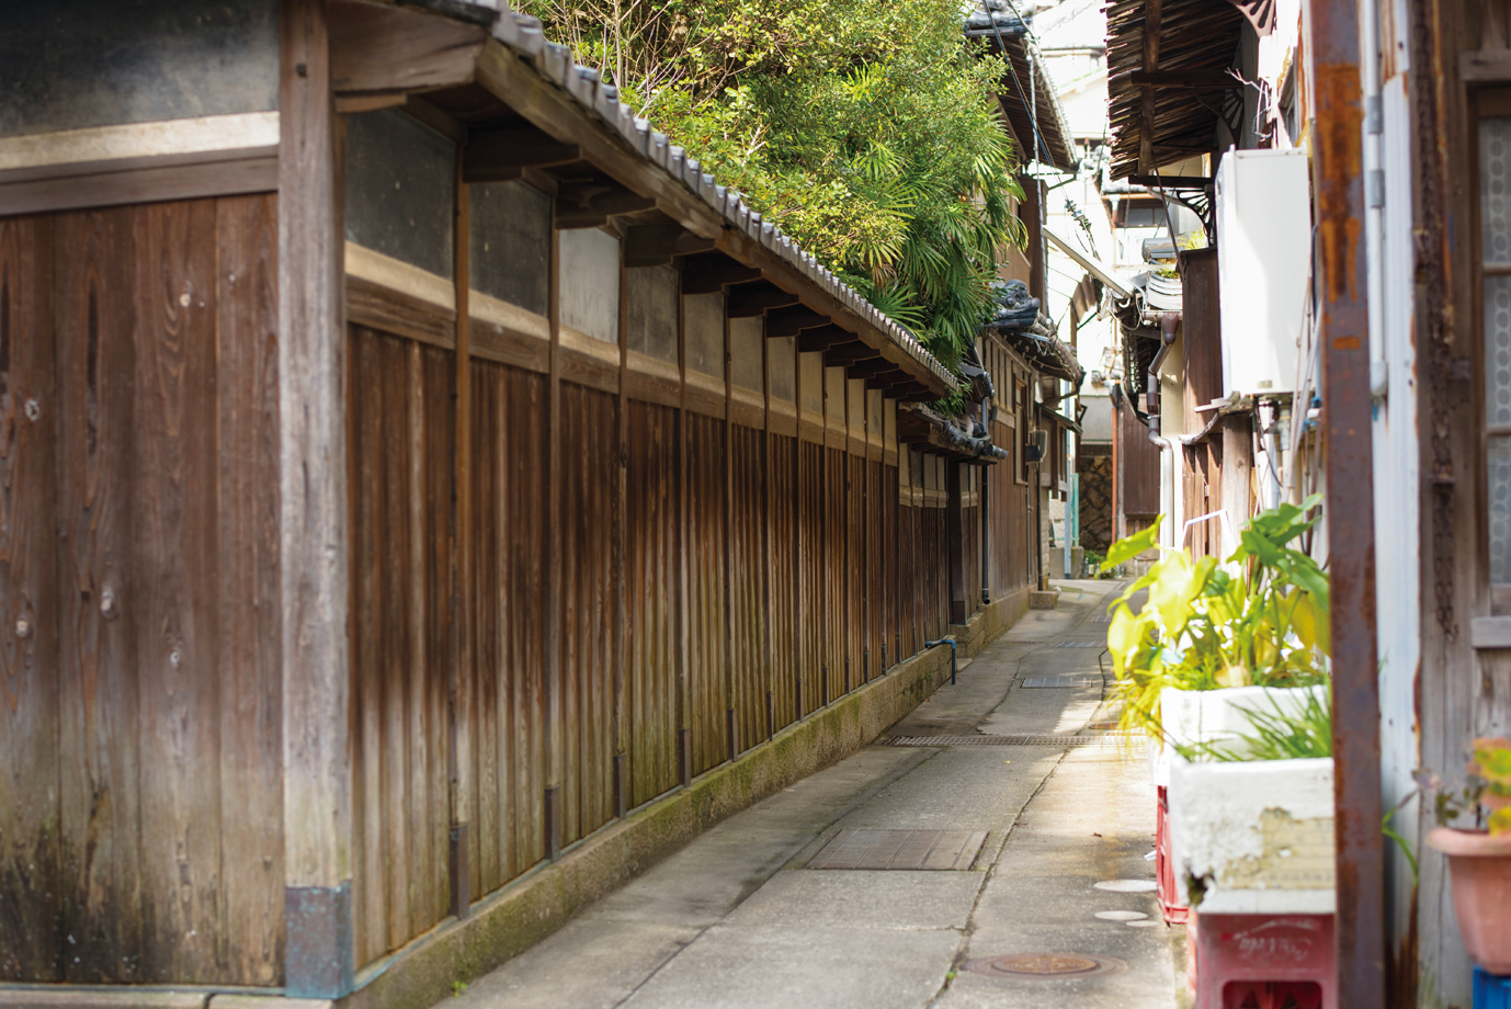
{"label": "terracotta flower pot at right edge, without its plant", "polygon": [[1426,843],[1448,855],[1469,956],[1490,974],[1511,974],[1511,835],[1440,826]]}

